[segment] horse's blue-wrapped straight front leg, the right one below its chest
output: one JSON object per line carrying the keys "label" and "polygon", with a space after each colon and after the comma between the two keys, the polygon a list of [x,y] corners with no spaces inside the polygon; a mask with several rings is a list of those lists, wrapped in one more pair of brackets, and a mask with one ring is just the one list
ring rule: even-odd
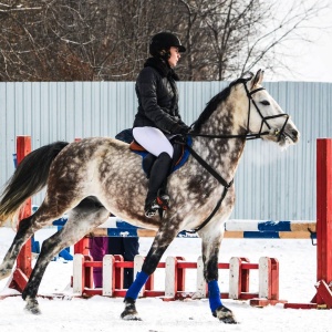
{"label": "horse's blue-wrapped straight front leg, the right one below its chest", "polygon": [[226,308],[220,299],[218,286],[218,256],[224,232],[217,234],[216,229],[205,232],[203,238],[204,278],[208,284],[209,304],[212,315],[227,324],[237,324],[231,310]]}

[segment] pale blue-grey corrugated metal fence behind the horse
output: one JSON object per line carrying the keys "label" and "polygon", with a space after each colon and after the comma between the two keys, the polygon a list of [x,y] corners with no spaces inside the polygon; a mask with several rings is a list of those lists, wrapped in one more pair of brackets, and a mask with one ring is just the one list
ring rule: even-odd
{"label": "pale blue-grey corrugated metal fence behind the horse", "polygon": [[[179,108],[191,124],[227,82],[179,82]],[[231,218],[314,220],[315,141],[331,137],[332,84],[273,82],[264,86],[301,132],[288,151],[247,142],[236,175]],[[0,83],[0,185],[13,173],[17,135],[32,148],[54,141],[112,136],[131,127],[137,108],[133,82]],[[40,204],[42,195],[34,198]]]}

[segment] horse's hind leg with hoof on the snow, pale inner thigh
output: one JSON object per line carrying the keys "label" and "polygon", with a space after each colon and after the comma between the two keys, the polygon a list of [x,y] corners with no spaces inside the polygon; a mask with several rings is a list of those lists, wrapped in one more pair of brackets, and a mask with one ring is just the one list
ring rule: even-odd
{"label": "horse's hind leg with hoof on the snow, pale inner thigh", "polygon": [[27,311],[33,314],[41,313],[37,301],[37,293],[45,269],[52,258],[103,224],[108,218],[108,215],[110,212],[101,205],[87,204],[79,206],[71,211],[64,228],[43,242],[29,282],[22,293],[22,298],[27,302]]}

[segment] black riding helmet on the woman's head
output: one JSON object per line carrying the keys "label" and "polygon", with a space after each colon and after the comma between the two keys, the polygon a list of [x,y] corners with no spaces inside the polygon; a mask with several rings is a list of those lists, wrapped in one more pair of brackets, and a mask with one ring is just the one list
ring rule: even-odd
{"label": "black riding helmet on the woman's head", "polygon": [[186,52],[186,48],[181,45],[180,40],[174,33],[159,32],[151,40],[149,53],[153,56],[163,56],[165,55],[163,51],[168,52],[172,46],[178,48],[179,52]]}

